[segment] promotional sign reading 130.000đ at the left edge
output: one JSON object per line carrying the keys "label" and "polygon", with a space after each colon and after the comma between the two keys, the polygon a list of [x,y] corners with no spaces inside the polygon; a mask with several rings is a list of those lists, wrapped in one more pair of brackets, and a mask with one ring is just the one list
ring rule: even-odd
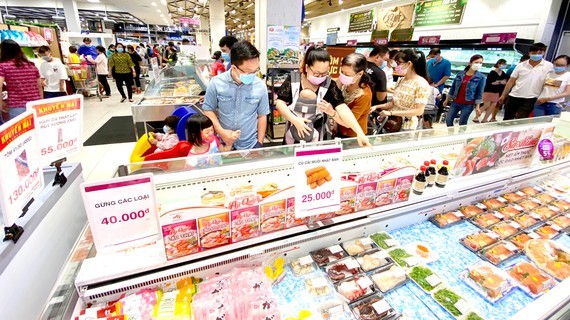
{"label": "promotional sign reading 130.000\u0111 at the left edge", "polygon": [[0,196],[4,225],[11,226],[43,188],[34,114],[26,111],[0,127]]}

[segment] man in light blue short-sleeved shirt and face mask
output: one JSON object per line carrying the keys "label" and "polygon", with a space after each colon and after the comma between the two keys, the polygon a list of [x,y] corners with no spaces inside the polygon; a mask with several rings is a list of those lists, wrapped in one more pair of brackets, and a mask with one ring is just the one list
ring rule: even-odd
{"label": "man in light blue short-sleeved shirt and face mask", "polygon": [[236,150],[261,148],[269,99],[266,85],[257,77],[259,51],[247,41],[237,42],[231,49],[231,61],[228,71],[210,81],[202,109],[225,144]]}

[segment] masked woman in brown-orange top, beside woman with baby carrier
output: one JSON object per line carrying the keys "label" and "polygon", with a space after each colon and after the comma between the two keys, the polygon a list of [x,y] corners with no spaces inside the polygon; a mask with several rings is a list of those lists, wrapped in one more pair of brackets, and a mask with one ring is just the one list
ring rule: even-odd
{"label": "masked woman in brown-orange top, beside woman with baby carrier", "polygon": [[[368,132],[368,114],[370,114],[372,103],[370,88],[374,86],[374,83],[364,72],[365,69],[366,57],[360,53],[351,53],[342,59],[339,80],[342,83],[344,103],[352,111],[362,131]],[[341,126],[337,137],[356,137],[356,132],[351,128]]]}

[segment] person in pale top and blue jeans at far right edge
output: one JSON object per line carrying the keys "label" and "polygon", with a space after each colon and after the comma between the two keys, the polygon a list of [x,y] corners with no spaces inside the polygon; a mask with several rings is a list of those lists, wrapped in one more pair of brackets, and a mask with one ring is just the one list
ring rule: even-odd
{"label": "person in pale top and blue jeans at far right edge", "polygon": [[546,75],[544,88],[534,106],[535,117],[556,116],[562,112],[562,103],[570,95],[570,73],[566,71],[569,63],[567,55],[554,59],[554,71]]}

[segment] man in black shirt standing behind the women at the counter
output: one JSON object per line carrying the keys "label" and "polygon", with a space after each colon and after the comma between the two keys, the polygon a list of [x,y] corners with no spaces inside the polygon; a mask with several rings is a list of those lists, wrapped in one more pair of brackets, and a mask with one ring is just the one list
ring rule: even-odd
{"label": "man in black shirt standing behind the women at the counter", "polygon": [[383,45],[375,46],[370,52],[367,59],[366,73],[370,75],[370,78],[374,82],[374,88],[372,90],[372,106],[386,103],[386,73],[382,71],[382,68],[386,66],[389,58],[390,50],[388,47]]}

